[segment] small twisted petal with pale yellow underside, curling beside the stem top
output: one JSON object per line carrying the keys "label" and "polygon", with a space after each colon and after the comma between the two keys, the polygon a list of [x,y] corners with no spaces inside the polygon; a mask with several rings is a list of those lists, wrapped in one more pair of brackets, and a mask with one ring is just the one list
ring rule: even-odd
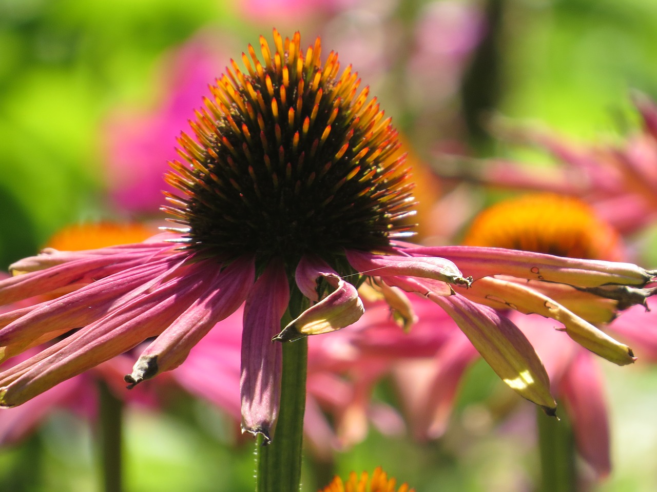
{"label": "small twisted petal with pale yellow underside, curling beside the stem top", "polygon": [[273,340],[290,342],[306,335],[330,333],[349,326],[363,316],[365,309],[353,285],[332,274],[325,275],[336,290],[284,327]]}

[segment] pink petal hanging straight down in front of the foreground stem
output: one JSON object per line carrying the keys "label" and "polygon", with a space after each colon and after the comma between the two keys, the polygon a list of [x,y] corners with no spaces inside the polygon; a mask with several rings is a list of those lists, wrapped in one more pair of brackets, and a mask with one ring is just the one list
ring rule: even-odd
{"label": "pink petal hanging straight down in front of the foreground stem", "polygon": [[258,277],[244,306],[242,332],[242,429],[270,439],[281,396],[283,351],[271,339],[281,329],[290,287],[283,264],[272,260]]}

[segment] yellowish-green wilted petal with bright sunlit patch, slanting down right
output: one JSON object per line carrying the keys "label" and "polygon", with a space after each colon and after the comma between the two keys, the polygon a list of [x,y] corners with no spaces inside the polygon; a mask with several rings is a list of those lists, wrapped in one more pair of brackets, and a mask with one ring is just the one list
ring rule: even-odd
{"label": "yellowish-green wilted petal with bright sunlit patch, slanting down right", "polygon": [[493,371],[520,396],[555,415],[556,402],[543,363],[527,338],[509,319],[461,295],[433,299],[456,321]]}

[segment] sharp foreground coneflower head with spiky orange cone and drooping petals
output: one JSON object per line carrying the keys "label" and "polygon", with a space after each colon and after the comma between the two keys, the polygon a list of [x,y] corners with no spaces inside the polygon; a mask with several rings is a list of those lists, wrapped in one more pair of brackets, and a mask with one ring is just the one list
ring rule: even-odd
{"label": "sharp foreground coneflower head with spiky orange cone and drooping petals", "polygon": [[[143,243],[46,250],[11,266],[24,274],[0,283],[0,302],[69,293],[1,315],[1,356],[69,335],[0,373],[0,404],[23,403],[154,337],[125,378],[134,386],[183,363],[245,303],[242,427],[266,439],[281,392],[281,344],[272,340],[350,325],[363,313],[356,287],[368,281],[384,295],[399,287],[442,306],[507,384],[554,413],[547,374],[528,340],[479,303],[510,291],[524,309],[545,296],[533,284],[485,280],[506,274],[541,286],[576,285],[597,308],[594,289],[602,285],[612,285],[607,297],[643,302],[641,289],[656,272],[400,242],[411,234],[405,219],[413,214],[413,185],[390,119],[376,99],[367,101],[367,88],[359,92],[350,66],[340,73],[336,53],[321,63],[319,38],[305,53],[299,33],[283,39],[274,31],[273,38],[273,49],[260,38],[262,62],[253,47],[242,55],[244,72],[231,62],[211,89],[214,100],[196,112],[195,139],[179,138],[185,163],[171,164],[166,181],[178,194],[166,194],[164,207],[177,227]],[[466,289],[472,281],[459,267],[484,290]],[[587,348],[619,364],[634,360],[629,347],[584,319],[555,313]],[[281,330],[284,315],[292,321]]]}

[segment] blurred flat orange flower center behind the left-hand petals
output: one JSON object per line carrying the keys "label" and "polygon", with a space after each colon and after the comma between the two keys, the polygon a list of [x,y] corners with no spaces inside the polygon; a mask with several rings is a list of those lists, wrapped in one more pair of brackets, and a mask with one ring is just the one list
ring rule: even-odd
{"label": "blurred flat orange flower center behind the left-hand petals", "polygon": [[141,243],[158,230],[143,224],[97,222],[67,226],[51,237],[47,247],[59,251],[83,251],[108,246]]}

